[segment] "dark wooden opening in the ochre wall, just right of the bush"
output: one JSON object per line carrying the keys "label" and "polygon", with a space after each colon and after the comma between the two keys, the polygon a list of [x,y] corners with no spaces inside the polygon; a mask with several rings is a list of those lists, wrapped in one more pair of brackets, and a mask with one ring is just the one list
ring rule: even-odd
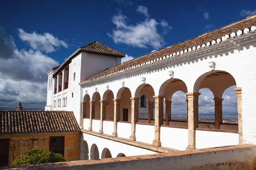
{"label": "dark wooden opening in the ochre wall, just right of the bush", "polygon": [[64,136],[51,136],[49,150],[53,153],[60,153],[64,156]]}

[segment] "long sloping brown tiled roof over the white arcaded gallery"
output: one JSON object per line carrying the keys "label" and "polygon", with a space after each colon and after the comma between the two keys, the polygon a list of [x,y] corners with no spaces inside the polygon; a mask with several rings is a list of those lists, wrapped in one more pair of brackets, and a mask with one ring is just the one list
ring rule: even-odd
{"label": "long sloping brown tiled roof over the white arcaded gallery", "polygon": [[[128,70],[129,68],[134,68],[134,66],[136,66],[136,65],[145,65],[145,63],[148,64],[148,62],[152,63],[152,61],[154,61],[156,59],[159,60],[160,57],[163,57],[164,59],[168,58],[168,57],[171,58],[171,56],[177,57],[177,56],[189,51],[188,50],[189,48],[192,48],[193,50],[195,50],[195,49],[198,49],[201,47],[203,48],[208,45],[216,44],[216,41],[214,41],[214,40],[217,40],[217,43],[221,42],[221,40],[226,40],[232,36],[237,36],[238,35],[238,34],[236,34],[237,31],[244,30],[245,28],[250,28],[255,25],[256,25],[256,14],[246,17],[242,20],[236,21],[235,23],[231,23],[227,26],[224,26],[224,27],[215,29],[213,31],[201,34],[201,35],[191,38],[189,40],[178,42],[174,45],[170,45],[166,48],[162,48],[162,49],[152,52],[150,54],[145,54],[141,57],[137,57],[128,62],[124,62],[122,64],[108,68],[108,69],[100,72],[99,74],[96,74],[95,76],[90,77],[89,79],[86,79],[86,80],[80,82],[80,84],[84,84],[86,82],[93,81],[95,79],[104,78],[106,76],[111,76],[111,74],[113,74],[113,73],[116,73],[119,71],[125,71],[125,70]],[[255,27],[253,27],[253,29],[255,29]],[[234,34],[229,35],[231,33],[234,33]],[[226,36],[227,36],[227,38],[226,38]],[[223,39],[223,37],[224,37],[224,39]]]}

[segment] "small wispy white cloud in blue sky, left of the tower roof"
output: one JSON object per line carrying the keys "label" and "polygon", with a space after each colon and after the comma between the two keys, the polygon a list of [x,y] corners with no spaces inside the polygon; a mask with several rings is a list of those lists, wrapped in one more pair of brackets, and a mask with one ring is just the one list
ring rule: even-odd
{"label": "small wispy white cloud in blue sky, left of the tower roof", "polygon": [[59,40],[58,37],[54,37],[50,33],[38,34],[35,31],[33,33],[27,33],[22,28],[18,28],[18,31],[20,39],[28,42],[35,50],[50,53],[61,46],[68,48],[68,44],[64,40]]}

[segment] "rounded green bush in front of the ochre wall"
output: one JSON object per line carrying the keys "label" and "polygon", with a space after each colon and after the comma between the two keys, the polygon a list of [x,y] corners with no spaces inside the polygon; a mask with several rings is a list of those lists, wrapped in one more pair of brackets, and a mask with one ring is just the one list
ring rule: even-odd
{"label": "rounded green bush in front of the ochre wall", "polygon": [[59,153],[52,153],[45,149],[38,149],[35,147],[32,150],[24,151],[20,156],[17,156],[12,163],[12,166],[24,165],[24,164],[43,164],[53,162],[66,161],[63,155]]}

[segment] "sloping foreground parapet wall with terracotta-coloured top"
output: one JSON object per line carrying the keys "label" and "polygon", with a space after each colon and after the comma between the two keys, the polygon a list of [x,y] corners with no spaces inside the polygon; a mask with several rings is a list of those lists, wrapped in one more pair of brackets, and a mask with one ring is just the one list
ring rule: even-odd
{"label": "sloping foreground parapet wall with terracotta-coloured top", "polygon": [[[255,153],[255,145],[239,144],[227,147],[175,151],[142,156],[23,165],[18,167],[9,167],[9,169],[31,170],[58,168],[60,170],[253,170],[256,168]],[[2,168],[4,169],[4,167]]]}

